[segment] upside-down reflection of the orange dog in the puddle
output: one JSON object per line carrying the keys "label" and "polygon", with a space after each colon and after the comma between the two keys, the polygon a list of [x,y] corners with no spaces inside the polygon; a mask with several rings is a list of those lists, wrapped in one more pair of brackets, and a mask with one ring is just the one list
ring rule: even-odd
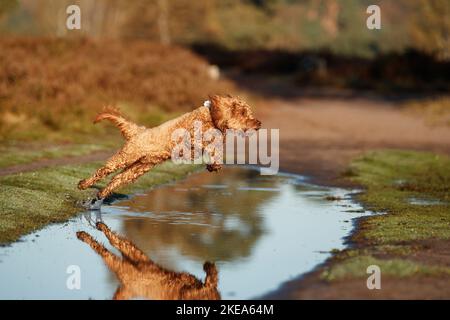
{"label": "upside-down reflection of the orange dog in the puddle", "polygon": [[90,245],[119,279],[120,286],[114,299],[220,299],[218,273],[213,263],[206,262],[203,265],[206,278],[202,282],[189,273],[173,272],[157,265],[131,241],[111,231],[106,224],[97,222],[96,227],[122,253],[122,258],[108,251],[84,231],[77,232],[77,237]]}

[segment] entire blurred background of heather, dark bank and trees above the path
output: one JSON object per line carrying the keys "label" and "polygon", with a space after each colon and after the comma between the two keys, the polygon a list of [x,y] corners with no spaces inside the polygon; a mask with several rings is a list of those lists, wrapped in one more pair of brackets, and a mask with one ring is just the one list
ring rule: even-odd
{"label": "entire blurred background of heather, dark bank and trees above the path", "polygon": [[[66,27],[71,4],[81,30]],[[381,30],[366,27],[371,4]],[[85,141],[108,130],[90,121],[108,104],[154,126],[209,94],[282,93],[261,85],[273,78],[449,92],[449,13],[449,0],[0,0],[0,143]]]}

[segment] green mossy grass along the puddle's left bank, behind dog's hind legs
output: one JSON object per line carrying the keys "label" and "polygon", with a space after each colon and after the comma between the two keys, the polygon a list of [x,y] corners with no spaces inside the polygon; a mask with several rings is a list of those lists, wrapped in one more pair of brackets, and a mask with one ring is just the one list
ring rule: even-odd
{"label": "green mossy grass along the puddle's left bank, behind dog's hind legs", "polygon": [[[93,196],[96,190],[80,191],[77,183],[100,165],[68,165],[0,177],[0,243],[15,241],[46,224],[63,222],[83,211],[77,202]],[[185,177],[197,169],[198,166],[167,162],[121,191],[149,189]]]}

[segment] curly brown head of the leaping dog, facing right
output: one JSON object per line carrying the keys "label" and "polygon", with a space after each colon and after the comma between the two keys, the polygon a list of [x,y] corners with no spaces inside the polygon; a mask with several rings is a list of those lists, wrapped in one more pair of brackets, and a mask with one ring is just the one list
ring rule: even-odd
{"label": "curly brown head of the leaping dog, facing right", "polygon": [[261,128],[261,121],[253,116],[250,106],[245,101],[231,96],[212,96],[211,118],[217,129],[225,132],[227,129],[233,130],[258,130]]}

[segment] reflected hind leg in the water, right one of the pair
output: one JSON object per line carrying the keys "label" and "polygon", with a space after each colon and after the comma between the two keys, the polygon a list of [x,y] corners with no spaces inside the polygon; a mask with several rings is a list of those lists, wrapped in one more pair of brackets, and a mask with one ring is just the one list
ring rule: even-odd
{"label": "reflected hind leg in the water, right one of the pair", "polygon": [[119,250],[123,254],[123,256],[131,262],[151,262],[151,260],[145,255],[145,253],[142,252],[141,249],[136,247],[133,242],[119,236],[114,231],[111,231],[103,222],[97,222],[96,227],[98,230],[101,230],[105,234],[111,245]]}

